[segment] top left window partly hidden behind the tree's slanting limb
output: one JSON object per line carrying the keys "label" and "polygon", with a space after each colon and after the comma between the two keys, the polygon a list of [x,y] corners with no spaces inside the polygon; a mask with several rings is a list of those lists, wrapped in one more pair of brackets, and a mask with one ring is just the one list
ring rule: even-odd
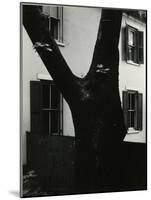
{"label": "top left window partly hidden behind the tree's slanting limb", "polygon": [[52,37],[63,42],[63,7],[43,6],[43,13],[48,16],[48,29]]}

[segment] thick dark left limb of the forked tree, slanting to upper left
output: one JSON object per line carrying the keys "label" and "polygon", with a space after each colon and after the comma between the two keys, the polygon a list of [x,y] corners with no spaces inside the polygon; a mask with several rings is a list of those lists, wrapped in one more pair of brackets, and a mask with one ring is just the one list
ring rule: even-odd
{"label": "thick dark left limb of the forked tree, slanting to upper left", "polygon": [[73,95],[75,76],[68,67],[47,26],[40,6],[23,5],[23,25],[48,72],[66,100]]}

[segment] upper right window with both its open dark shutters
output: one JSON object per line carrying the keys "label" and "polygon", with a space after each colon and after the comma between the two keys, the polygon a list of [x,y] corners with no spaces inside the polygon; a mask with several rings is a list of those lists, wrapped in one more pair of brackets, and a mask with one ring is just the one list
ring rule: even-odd
{"label": "upper right window with both its open dark shutters", "polygon": [[143,32],[127,25],[125,41],[126,61],[131,64],[143,64]]}

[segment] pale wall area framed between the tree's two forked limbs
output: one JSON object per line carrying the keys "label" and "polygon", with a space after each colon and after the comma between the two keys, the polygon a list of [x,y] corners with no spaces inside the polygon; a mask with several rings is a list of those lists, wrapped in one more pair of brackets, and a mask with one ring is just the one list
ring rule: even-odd
{"label": "pale wall area framed between the tree's two forked limbs", "polygon": [[64,42],[62,53],[73,73],[85,75],[90,67],[101,9],[64,8]]}

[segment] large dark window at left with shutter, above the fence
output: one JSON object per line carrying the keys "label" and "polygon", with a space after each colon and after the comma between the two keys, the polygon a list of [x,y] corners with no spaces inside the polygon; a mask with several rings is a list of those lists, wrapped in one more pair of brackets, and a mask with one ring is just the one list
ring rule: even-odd
{"label": "large dark window at left with shutter, above the fence", "polygon": [[62,95],[51,81],[31,81],[31,132],[62,135]]}

